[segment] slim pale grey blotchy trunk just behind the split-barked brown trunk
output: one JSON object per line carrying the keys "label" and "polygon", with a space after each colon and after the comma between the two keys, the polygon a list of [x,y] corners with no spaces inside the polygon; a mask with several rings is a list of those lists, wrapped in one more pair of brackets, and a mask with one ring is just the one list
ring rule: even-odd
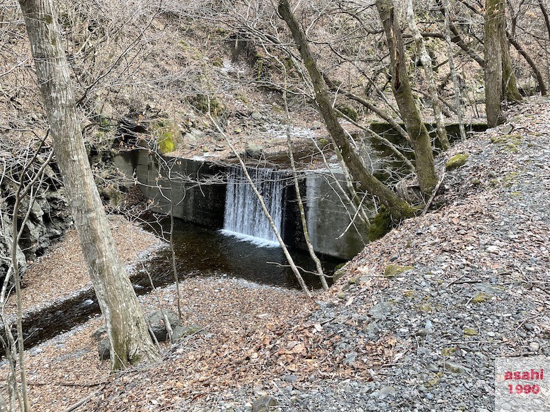
{"label": "slim pale grey blotchy trunk just behind the split-barked brown trunk", "polygon": [[450,148],[449,139],[447,137],[447,131],[445,130],[445,120],[443,119],[443,113],[441,111],[441,104],[439,102],[439,96],[437,95],[437,84],[435,83],[434,70],[432,68],[432,58],[426,50],[424,39],[420,30],[418,30],[417,22],[415,19],[415,10],[412,8],[412,0],[407,0],[407,23],[408,28],[412,32],[412,38],[415,39],[417,45],[417,54],[422,63],[422,67],[426,72],[426,81],[428,82],[428,90],[430,91],[430,100],[432,100],[432,109],[434,111],[435,123],[437,125],[437,137],[443,150]]}

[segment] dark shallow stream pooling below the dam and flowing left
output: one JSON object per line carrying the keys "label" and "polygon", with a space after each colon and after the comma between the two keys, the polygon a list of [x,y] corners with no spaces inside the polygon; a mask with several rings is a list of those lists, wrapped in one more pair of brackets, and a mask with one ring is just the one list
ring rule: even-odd
{"label": "dark shallow stream pooling below the dam and flowing left", "polygon": [[[170,229],[165,220],[162,230]],[[153,230],[153,229],[149,229]],[[156,231],[161,231],[157,227]],[[176,267],[179,279],[192,276],[241,277],[259,284],[300,288],[292,270],[287,266],[280,247],[259,246],[250,240],[230,236],[219,230],[207,229],[175,220],[174,244]],[[314,262],[303,251],[292,250],[297,266],[314,271]],[[342,260],[322,257],[327,274],[331,274]],[[137,295],[151,291],[151,274],[155,287],[174,282],[172,254],[169,247],[157,251],[144,262],[146,271],[137,271],[131,276]],[[305,273],[304,279],[310,288],[320,288],[316,275]],[[329,282],[330,283],[330,282]],[[25,348],[29,349],[43,341],[84,323],[100,312],[93,289],[85,290],[47,308],[30,312],[23,317]],[[15,332],[15,330],[13,330]]]}

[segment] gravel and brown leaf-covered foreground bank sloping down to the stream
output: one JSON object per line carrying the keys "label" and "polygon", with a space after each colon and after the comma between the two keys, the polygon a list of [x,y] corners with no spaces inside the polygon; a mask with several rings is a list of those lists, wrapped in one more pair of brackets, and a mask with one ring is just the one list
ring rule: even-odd
{"label": "gravel and brown leaf-covered foreground bank sloping down to the stream", "polygon": [[[469,155],[444,205],[369,244],[328,293],[186,279],[201,332],[109,374],[90,319],[25,353],[34,410],[492,411],[496,358],[550,355],[550,103],[507,115],[438,157]],[[56,256],[36,270],[56,276]],[[157,299],[176,310],[174,286],[140,297]]]}

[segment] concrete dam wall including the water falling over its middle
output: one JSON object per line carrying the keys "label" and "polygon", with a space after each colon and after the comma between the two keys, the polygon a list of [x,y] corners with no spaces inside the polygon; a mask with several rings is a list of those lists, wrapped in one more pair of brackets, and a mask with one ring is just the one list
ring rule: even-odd
{"label": "concrete dam wall including the water falling over its middle", "polygon": [[[137,180],[144,196],[153,201],[155,212],[171,212],[175,218],[197,225],[242,231],[245,236],[258,236],[268,242],[276,240],[252,191],[244,187],[248,183],[244,175],[239,175],[242,170],[239,172],[235,165],[159,157],[146,148],[121,153],[115,164],[129,179]],[[341,189],[330,176],[343,182],[343,175],[338,170],[328,172],[307,171],[300,176],[309,236],[317,253],[349,259],[363,249],[368,230],[358,219],[355,225],[350,224],[353,211],[342,205]],[[250,175],[256,176],[259,192],[276,217],[285,244],[305,250],[292,174],[250,168]],[[345,187],[344,183],[341,186]]]}

